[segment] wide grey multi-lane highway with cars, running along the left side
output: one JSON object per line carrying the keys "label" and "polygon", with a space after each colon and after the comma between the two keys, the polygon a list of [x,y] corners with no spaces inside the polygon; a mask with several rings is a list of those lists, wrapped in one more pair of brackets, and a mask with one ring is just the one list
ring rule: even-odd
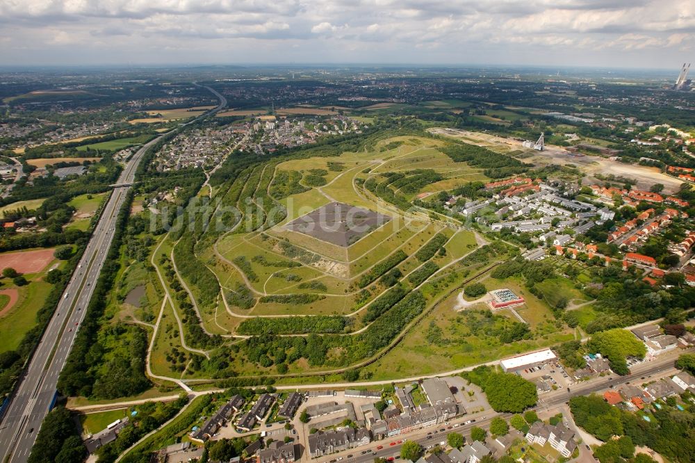
{"label": "wide grey multi-lane highway with cars, running along the left side", "polygon": [[[211,111],[212,113],[220,111],[227,105],[227,100],[222,95],[212,88],[205,88],[220,99],[220,104]],[[180,127],[188,124],[181,124]],[[85,316],[85,307],[92,297],[101,267],[111,247],[118,211],[123,205],[130,185],[135,180],[135,173],[142,156],[161,138],[160,136],[143,145],[128,161],[115,184],[117,186],[113,188],[111,197],[101,212],[101,218],[92,233],[92,238],[3,416],[0,425],[0,462],[26,462],[31,453],[36,434],[53,403],[58,375],[70,353],[76,332]]]}

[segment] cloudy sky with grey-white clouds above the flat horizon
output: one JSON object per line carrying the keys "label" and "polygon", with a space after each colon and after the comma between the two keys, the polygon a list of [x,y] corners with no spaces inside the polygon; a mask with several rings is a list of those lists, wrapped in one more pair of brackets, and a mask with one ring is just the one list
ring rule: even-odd
{"label": "cloudy sky with grey-white clouds above the flat horizon", "polygon": [[0,65],[685,60],[694,0],[0,0]]}

